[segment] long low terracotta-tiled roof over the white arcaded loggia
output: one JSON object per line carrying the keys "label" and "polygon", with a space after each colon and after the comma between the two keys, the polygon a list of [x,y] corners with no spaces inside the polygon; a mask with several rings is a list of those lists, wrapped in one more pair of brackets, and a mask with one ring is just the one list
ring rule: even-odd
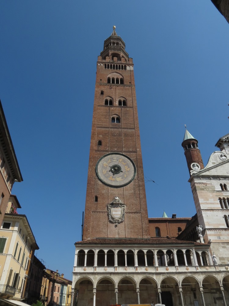
{"label": "long low terracotta-tiled roof over the white arcaded loggia", "polygon": [[206,243],[178,240],[171,237],[153,238],[94,238],[89,240],[77,241],[75,244],[192,244],[208,245]]}

